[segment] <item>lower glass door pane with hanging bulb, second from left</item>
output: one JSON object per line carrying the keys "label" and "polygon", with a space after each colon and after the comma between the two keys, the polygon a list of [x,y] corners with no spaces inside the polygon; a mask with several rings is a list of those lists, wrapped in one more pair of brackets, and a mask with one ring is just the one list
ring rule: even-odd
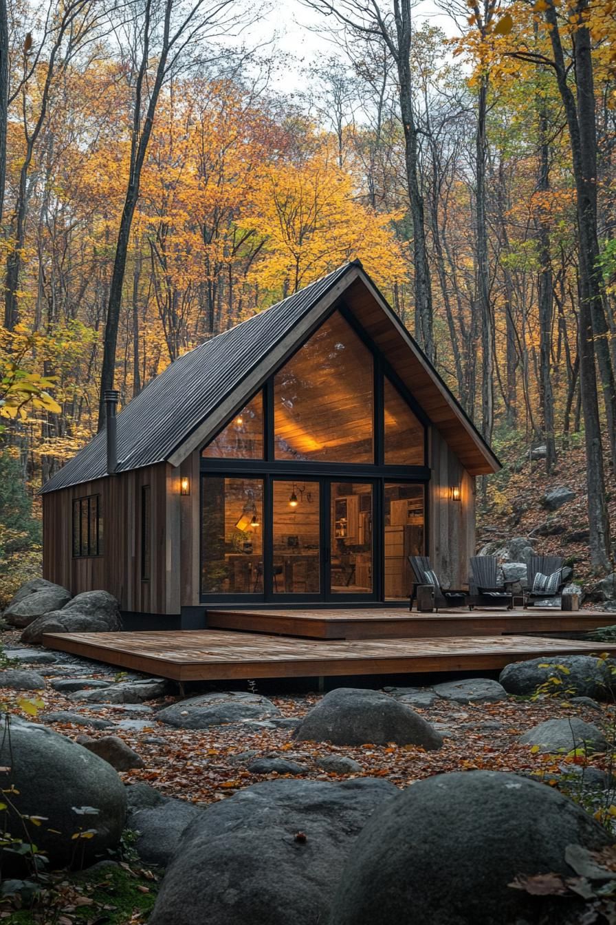
{"label": "lower glass door pane with hanging bulb, second from left", "polygon": [[318,595],[320,484],[272,481],[272,592]]}

